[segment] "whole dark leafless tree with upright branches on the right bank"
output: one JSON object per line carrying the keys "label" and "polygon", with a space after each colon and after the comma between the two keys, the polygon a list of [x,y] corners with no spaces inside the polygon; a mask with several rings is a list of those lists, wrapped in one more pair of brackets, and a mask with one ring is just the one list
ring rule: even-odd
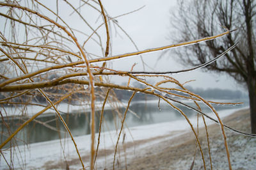
{"label": "whole dark leafless tree with upright branches on the right bank", "polygon": [[248,88],[253,134],[256,133],[255,6],[253,0],[180,1],[179,12],[174,14],[176,22],[173,24],[182,41],[211,36],[220,33],[221,29],[238,29],[218,41],[189,46],[185,52],[179,50],[178,54],[185,65],[200,65],[239,42],[235,50],[223,59],[207,65],[205,69],[227,73]]}

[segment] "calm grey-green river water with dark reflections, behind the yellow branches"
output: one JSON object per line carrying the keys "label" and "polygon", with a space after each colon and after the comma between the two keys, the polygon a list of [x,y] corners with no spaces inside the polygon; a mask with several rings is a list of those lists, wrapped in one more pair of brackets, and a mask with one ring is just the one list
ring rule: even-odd
{"label": "calm grey-green river water with dark reflections, behind the yellow branches", "polygon": [[[191,118],[191,116],[195,116],[196,112],[191,111],[182,105],[177,105],[184,113]],[[195,107],[195,105],[193,105]],[[217,111],[221,109],[234,109],[236,107],[244,107],[242,106],[234,106],[234,105],[214,105],[214,108]],[[136,115],[131,111],[127,112],[127,118],[125,120],[126,127],[135,127],[140,125],[148,125],[154,123],[161,123],[166,121],[175,121],[183,119],[179,112],[172,109],[167,104],[160,104],[160,109],[157,106],[157,102],[133,102],[129,109],[132,112],[136,112]],[[103,131],[115,130],[120,128],[121,119],[123,118],[125,108],[119,108],[117,111],[115,110],[105,110],[104,111],[104,119],[103,119]],[[205,105],[202,105],[203,112],[209,112],[209,108]],[[62,114],[63,119],[66,121],[68,127],[70,128],[72,135],[86,135],[90,134],[90,112],[80,112],[76,114]],[[33,121],[27,125],[24,130],[21,130],[15,137],[17,139],[17,143],[36,143],[40,141],[49,141],[53,139],[60,139],[63,137],[68,137],[67,132],[65,132],[65,127],[63,127],[61,121],[56,117],[55,114],[51,116],[42,116],[40,118],[36,118],[36,121]],[[95,116],[95,125],[96,132],[99,131],[99,120],[100,120],[100,111],[96,112]],[[20,118],[19,120],[5,120],[5,123],[10,125],[10,129],[7,129],[4,126],[4,123],[1,121],[1,134],[13,132],[19,125],[24,123],[24,120]],[[39,122],[39,123],[38,123]],[[42,123],[47,123],[47,127],[42,125]],[[59,132],[57,132],[59,131]],[[1,142],[6,139],[6,135],[1,135]],[[8,146],[9,145],[9,146]],[[10,147],[10,144],[6,144],[6,147]]]}

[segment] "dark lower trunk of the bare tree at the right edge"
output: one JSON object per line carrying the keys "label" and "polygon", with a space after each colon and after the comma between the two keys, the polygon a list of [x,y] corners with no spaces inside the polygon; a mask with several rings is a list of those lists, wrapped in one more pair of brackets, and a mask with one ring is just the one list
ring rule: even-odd
{"label": "dark lower trunk of the bare tree at the right edge", "polygon": [[250,100],[251,130],[256,134],[256,80],[250,79],[247,83]]}

